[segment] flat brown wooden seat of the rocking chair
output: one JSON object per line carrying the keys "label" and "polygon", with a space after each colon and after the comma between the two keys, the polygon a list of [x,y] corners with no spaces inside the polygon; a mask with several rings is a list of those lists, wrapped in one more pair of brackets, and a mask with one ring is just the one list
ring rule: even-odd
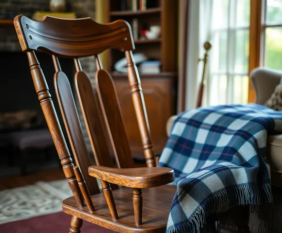
{"label": "flat brown wooden seat of the rocking chair", "polygon": [[63,211],[117,232],[163,233],[166,229],[170,206],[175,192],[176,187],[170,185],[142,189],[142,225],[138,228],[135,226],[131,188],[121,188],[113,191],[119,215],[118,220],[112,220],[104,194],[102,193],[92,196],[95,207],[93,213],[90,213],[86,206],[82,209],[79,208],[73,196],[63,201]]}

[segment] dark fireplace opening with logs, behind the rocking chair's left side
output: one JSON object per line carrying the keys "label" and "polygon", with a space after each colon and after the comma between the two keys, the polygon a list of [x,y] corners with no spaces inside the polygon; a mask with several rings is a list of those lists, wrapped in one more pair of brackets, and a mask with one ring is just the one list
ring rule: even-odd
{"label": "dark fireplace opening with logs, behind the rocking chair's left side", "polygon": [[[36,56],[66,136],[54,88],[55,69],[52,57],[43,52],[37,52]],[[0,151],[2,154],[0,156],[0,176],[61,167],[53,142],[51,146],[46,144],[48,140],[50,141],[50,133],[34,89],[26,53],[21,51],[1,52],[0,60]],[[74,89],[73,60],[66,58],[59,60],[63,72]],[[34,147],[32,143],[35,144]]]}

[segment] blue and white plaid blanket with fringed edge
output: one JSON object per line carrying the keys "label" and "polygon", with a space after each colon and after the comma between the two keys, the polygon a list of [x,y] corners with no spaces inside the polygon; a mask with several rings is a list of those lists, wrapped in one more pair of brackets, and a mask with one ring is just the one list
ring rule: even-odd
{"label": "blue and white plaid blanket with fringed edge", "polygon": [[272,201],[267,134],[282,132],[282,112],[262,105],[204,107],[172,126],[158,166],[175,171],[167,233],[204,231],[222,208]]}

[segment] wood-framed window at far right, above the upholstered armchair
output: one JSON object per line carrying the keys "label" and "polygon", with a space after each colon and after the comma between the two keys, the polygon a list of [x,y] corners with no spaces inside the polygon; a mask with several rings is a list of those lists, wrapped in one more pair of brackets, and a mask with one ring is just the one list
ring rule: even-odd
{"label": "wood-framed window at far right, above the upholstered armchair", "polygon": [[[249,71],[265,66],[282,70],[282,0],[251,0]],[[249,102],[255,93],[249,85]]]}

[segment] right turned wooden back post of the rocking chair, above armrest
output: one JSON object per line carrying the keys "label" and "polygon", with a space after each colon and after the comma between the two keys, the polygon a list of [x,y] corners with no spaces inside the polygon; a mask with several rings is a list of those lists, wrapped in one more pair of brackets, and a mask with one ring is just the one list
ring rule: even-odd
{"label": "right turned wooden back post of the rocking chair, above armrest", "polygon": [[142,92],[141,81],[133,59],[132,51],[126,50],[125,57],[127,61],[128,82],[131,89],[131,96],[140,130],[146,164],[147,167],[155,167],[156,161],[150,134],[150,126]]}

